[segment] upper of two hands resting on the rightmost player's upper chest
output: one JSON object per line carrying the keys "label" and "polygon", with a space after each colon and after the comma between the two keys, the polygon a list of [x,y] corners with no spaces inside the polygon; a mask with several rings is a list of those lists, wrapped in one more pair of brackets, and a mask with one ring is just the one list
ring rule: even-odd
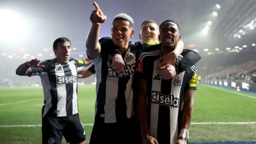
{"label": "upper of two hands resting on the rightmost player's upper chest", "polygon": [[164,56],[162,56],[161,58],[159,58],[157,61],[161,62],[160,66],[156,67],[156,68],[160,68],[166,64],[173,64],[174,62],[176,62],[176,58],[178,58],[178,54],[176,54],[175,52],[170,52]]}

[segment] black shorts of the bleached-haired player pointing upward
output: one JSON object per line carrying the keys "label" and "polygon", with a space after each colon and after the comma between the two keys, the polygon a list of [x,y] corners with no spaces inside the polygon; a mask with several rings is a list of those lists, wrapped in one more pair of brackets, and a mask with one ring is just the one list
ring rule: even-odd
{"label": "black shorts of the bleached-haired player pointing upward", "polygon": [[90,144],[142,144],[138,119],[104,123],[104,118],[95,118]]}

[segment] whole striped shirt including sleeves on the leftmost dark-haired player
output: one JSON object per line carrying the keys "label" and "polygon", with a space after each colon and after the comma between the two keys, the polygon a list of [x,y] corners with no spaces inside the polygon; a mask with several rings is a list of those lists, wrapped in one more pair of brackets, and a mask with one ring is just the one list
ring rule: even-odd
{"label": "whole striped shirt including sleeves on the leftmost dark-haired player", "polygon": [[70,58],[66,63],[56,59],[40,62],[43,68],[30,67],[28,76],[40,76],[44,90],[42,115],[70,116],[78,113],[77,72],[84,61]]}

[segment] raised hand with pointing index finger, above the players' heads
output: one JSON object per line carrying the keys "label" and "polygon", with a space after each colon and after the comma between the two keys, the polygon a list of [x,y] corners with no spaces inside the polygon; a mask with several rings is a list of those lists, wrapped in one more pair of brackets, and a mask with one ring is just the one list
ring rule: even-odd
{"label": "raised hand with pointing index finger, above the players' heads", "polygon": [[95,10],[92,11],[90,20],[92,24],[100,25],[106,21],[107,17],[100,10],[100,7],[96,2],[93,2],[93,5],[95,6]]}

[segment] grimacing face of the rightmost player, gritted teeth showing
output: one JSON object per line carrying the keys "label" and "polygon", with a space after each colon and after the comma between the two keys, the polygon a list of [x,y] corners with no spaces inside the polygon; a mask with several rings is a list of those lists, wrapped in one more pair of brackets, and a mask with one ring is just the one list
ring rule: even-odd
{"label": "grimacing face of the rightmost player, gritted teeth showing", "polygon": [[178,25],[174,22],[165,22],[160,27],[160,36],[162,46],[169,48],[175,48],[180,41],[180,31]]}

